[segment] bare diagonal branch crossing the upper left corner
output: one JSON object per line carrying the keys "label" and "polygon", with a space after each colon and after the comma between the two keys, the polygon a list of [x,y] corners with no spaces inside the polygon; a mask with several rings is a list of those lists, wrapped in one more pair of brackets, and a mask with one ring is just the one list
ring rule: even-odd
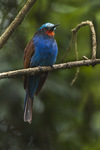
{"label": "bare diagonal branch crossing the upper left corner", "polygon": [[22,23],[24,17],[29,12],[33,4],[36,2],[36,0],[27,0],[24,7],[21,9],[21,11],[18,13],[16,18],[12,21],[12,23],[8,26],[8,28],[5,30],[5,32],[0,37],[0,48],[3,47],[3,45],[6,43],[6,41],[9,39],[9,37],[12,35],[12,33],[15,31],[15,29]]}

